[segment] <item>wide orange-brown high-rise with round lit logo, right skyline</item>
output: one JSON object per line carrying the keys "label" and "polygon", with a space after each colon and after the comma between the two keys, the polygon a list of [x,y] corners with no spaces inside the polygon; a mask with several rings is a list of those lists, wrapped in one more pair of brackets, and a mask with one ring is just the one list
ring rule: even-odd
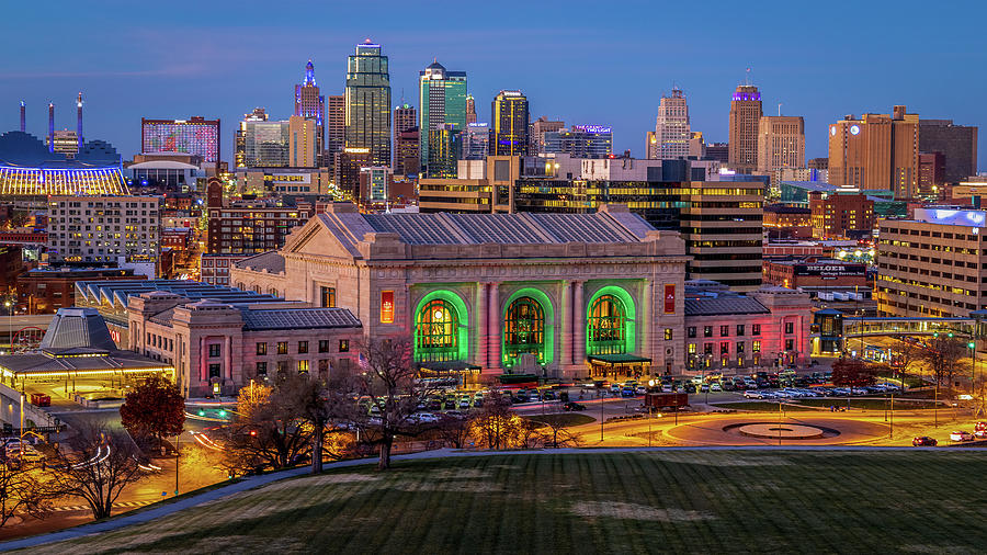
{"label": "wide orange-brown high-rise with round lit logo, right skyline", "polygon": [[918,186],[919,116],[852,115],[829,126],[829,182],[843,189],[893,191],[911,199]]}

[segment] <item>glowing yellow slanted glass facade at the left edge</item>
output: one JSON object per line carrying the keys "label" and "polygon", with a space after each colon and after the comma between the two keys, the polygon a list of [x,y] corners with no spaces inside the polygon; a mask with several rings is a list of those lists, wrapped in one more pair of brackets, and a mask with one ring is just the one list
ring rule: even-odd
{"label": "glowing yellow slanted glass facade at the left edge", "polygon": [[10,168],[0,166],[2,195],[129,194],[118,167],[114,168]]}

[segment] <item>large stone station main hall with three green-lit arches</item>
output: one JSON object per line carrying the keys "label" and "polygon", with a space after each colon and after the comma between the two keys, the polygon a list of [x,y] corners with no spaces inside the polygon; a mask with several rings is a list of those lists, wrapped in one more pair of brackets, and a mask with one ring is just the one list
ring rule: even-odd
{"label": "large stone station main hall with three green-lit arches", "polygon": [[547,377],[685,369],[685,243],[593,214],[361,214],[330,205],[230,285],[349,309],[423,370]]}

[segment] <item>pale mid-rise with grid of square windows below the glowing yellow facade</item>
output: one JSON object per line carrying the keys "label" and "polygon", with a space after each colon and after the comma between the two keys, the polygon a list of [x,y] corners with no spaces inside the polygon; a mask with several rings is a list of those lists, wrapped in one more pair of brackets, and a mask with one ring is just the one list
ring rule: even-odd
{"label": "pale mid-rise with grid of square windows below the glowing yellow facade", "polygon": [[158,260],[160,196],[48,197],[49,262]]}

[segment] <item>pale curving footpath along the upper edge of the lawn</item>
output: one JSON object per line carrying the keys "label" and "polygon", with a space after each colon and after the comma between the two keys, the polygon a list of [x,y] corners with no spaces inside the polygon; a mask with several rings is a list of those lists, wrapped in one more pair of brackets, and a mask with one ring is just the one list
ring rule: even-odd
{"label": "pale curving footpath along the upper edge of the lawn", "polygon": [[[530,455],[567,455],[575,453],[627,453],[632,451],[863,451],[863,450],[873,450],[873,451],[916,451],[916,450],[935,450],[937,448],[894,448],[894,446],[840,446],[840,445],[827,445],[822,448],[818,446],[762,446],[762,445],[749,445],[749,446],[733,446],[733,445],[724,445],[724,446],[706,446],[706,448],[594,448],[594,449],[583,449],[583,448],[566,448],[566,449],[548,449],[548,450],[532,450],[532,451],[457,451],[452,449],[440,449],[435,451],[426,451],[421,453],[410,453],[407,455],[395,455],[393,457],[394,461],[407,461],[407,460],[421,460],[421,458],[443,458],[451,456],[497,456],[497,455],[517,455],[517,454],[530,454]],[[325,465],[326,471],[331,471],[334,468],[345,468],[350,466],[362,466],[370,465],[376,463],[375,458],[358,458],[353,461],[340,461],[337,463],[330,463]],[[239,494],[241,491],[247,491],[249,489],[256,489],[261,486],[265,486],[271,484],[272,482],[282,480],[285,478],[292,478],[297,476],[304,476],[310,472],[308,466],[292,468],[290,471],[282,471],[277,473],[263,474],[261,476],[248,476],[243,479],[230,484],[228,486],[218,487],[216,489],[212,489],[209,491],[205,491],[200,495],[195,495],[192,497],[185,497],[179,499],[177,501],[170,503],[162,503],[160,507],[154,507],[148,510],[135,513],[135,514],[124,514],[118,518],[105,520],[102,522],[93,522],[91,524],[82,524],[80,526],[71,528],[68,530],[63,530],[59,532],[53,532],[50,534],[41,534],[32,537],[23,537],[20,540],[11,540],[9,542],[0,543],[0,552],[13,551],[13,550],[24,550],[29,547],[35,547],[37,545],[44,545],[54,542],[63,542],[67,540],[77,540],[79,537],[83,537],[87,535],[99,534],[103,532],[110,532],[112,530],[118,530],[122,528],[126,528],[134,524],[143,524],[145,522],[159,519],[161,517],[167,517],[169,514],[175,513],[178,511],[182,511],[185,509],[191,509],[192,507],[197,507],[200,505],[215,501],[217,499],[223,499],[225,497],[229,497],[235,494]]]}

